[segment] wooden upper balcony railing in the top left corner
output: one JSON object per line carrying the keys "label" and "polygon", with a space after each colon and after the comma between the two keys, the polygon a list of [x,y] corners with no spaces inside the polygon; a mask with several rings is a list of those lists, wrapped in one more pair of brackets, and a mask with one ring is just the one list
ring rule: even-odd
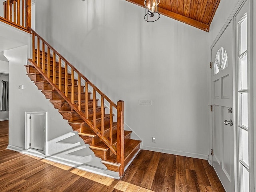
{"label": "wooden upper balcony railing in the top left corner", "polygon": [[30,32],[31,27],[31,0],[6,0],[4,2],[4,17],[0,21],[16,28]]}

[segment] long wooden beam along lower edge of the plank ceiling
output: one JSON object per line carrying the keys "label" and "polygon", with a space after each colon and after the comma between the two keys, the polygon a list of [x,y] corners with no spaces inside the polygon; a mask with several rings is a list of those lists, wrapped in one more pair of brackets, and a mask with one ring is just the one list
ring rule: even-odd
{"label": "long wooden beam along lower edge of the plank ceiling", "polygon": [[[126,1],[131,2],[133,4],[136,4],[138,6],[141,6],[141,7],[145,7],[144,6],[144,1],[142,1],[142,0],[126,0]],[[209,30],[210,30],[210,26],[208,24],[196,21],[194,19],[185,17],[183,15],[174,13],[172,11],[169,11],[169,10],[166,10],[166,9],[163,9],[163,8],[160,8],[160,7],[159,7],[159,13],[162,14],[162,15],[165,15],[167,17],[173,18],[175,20],[178,20],[180,22],[186,23],[188,25],[194,26],[198,29],[204,30],[206,32],[209,32]]]}

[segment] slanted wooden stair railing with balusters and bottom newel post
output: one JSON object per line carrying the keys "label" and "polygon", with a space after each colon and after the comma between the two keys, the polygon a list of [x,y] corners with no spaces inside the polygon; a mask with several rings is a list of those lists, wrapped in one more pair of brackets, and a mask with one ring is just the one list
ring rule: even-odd
{"label": "slanted wooden stair railing with balusters and bottom newel post", "polygon": [[[60,53],[58,53],[48,42],[46,42],[40,35],[38,35],[34,30],[28,28],[32,32],[32,47],[33,47],[33,59],[29,59],[29,61],[34,64],[34,67],[48,80],[48,82],[53,86],[54,90],[56,90],[75,110],[81,118],[92,128],[92,130],[99,136],[99,138],[108,146],[108,148],[116,155],[116,160],[121,164],[119,174],[122,176],[124,174],[124,102],[118,101],[117,104],[112,102],[105,94],[103,94],[92,82],[90,82],[83,74],[81,74],[70,62],[68,62]],[[37,43],[37,46],[36,46]],[[42,45],[42,51],[40,50]],[[47,52],[45,52],[44,46],[48,47]],[[36,49],[37,48],[37,49]],[[37,52],[37,60],[36,60],[36,52]],[[44,61],[42,61],[42,66],[40,64],[40,54],[42,52],[42,58],[45,58],[47,62],[47,73],[43,70]],[[44,55],[47,56],[44,57]],[[52,56],[51,56],[52,55]],[[52,60],[51,60],[52,59]],[[56,61],[58,59],[58,61]],[[37,64],[36,64],[37,62]],[[62,62],[64,63],[64,67],[62,66]],[[57,64],[58,63],[58,64]],[[52,68],[52,74],[50,74],[50,70]],[[56,70],[58,69],[58,71]],[[62,70],[64,70],[64,83],[62,79]],[[71,81],[70,74],[71,72]],[[58,75],[58,76],[57,76]],[[78,80],[75,80],[75,76],[77,76]],[[58,80],[56,80],[58,78]],[[81,90],[82,81],[85,85]],[[75,103],[75,81],[78,82],[78,91],[76,92],[78,104]],[[71,83],[70,83],[71,82]],[[64,85],[64,88],[61,85]],[[71,84],[71,93],[68,89],[68,84]],[[92,121],[88,117],[88,86],[92,87],[92,96],[93,96],[93,113],[92,113]],[[64,90],[63,90],[64,89]],[[84,95],[85,94],[85,95]],[[96,94],[100,95],[101,99],[101,121],[98,121],[96,116]],[[83,96],[84,95],[84,96]],[[81,98],[85,98],[85,106],[81,104]],[[104,113],[104,101],[109,103],[110,107],[110,116],[109,116],[109,138],[106,138],[104,134],[104,126],[105,126],[105,113]],[[117,147],[113,143],[113,108],[117,111]],[[100,126],[100,130],[98,128]],[[106,134],[107,135],[107,134]]]}

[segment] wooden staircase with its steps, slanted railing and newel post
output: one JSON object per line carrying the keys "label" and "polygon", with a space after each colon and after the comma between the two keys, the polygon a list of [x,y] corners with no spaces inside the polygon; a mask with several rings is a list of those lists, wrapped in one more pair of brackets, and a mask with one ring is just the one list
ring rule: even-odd
{"label": "wooden staircase with its steps, slanted railing and newel post", "polygon": [[[108,170],[124,175],[140,142],[124,130],[124,102],[112,102],[36,32],[27,75]],[[91,90],[91,92],[89,92]]]}

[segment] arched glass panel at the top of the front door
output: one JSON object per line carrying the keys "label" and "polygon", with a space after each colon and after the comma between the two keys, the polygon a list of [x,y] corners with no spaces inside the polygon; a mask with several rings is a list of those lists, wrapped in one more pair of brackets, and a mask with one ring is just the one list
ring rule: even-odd
{"label": "arched glass panel at the top of the front door", "polygon": [[228,66],[228,54],[226,50],[221,47],[215,57],[214,61],[214,75],[222,71]]}

